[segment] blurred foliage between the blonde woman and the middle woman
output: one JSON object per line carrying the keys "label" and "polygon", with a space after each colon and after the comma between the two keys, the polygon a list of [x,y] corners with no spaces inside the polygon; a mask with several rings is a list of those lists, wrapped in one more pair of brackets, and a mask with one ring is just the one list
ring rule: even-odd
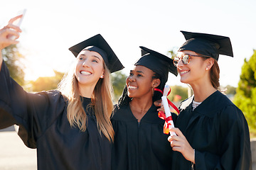
{"label": "blurred foliage between the blonde woman and the middle woman", "polygon": [[112,86],[114,89],[114,101],[118,101],[118,98],[122,95],[122,91],[126,84],[127,75],[123,74],[122,71],[114,72],[111,75]]}

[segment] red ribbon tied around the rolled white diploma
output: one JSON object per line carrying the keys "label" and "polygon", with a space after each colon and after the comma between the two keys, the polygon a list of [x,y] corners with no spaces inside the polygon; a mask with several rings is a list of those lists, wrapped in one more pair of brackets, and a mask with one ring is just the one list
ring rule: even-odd
{"label": "red ribbon tied around the rolled white diploma", "polygon": [[[164,94],[163,91],[161,91],[160,89],[154,89],[154,90],[161,92],[161,94]],[[170,88],[167,96],[170,93],[171,93],[171,88]],[[169,106],[174,108],[174,110],[179,114],[180,112],[178,111],[178,108],[174,105],[174,103],[171,103],[171,101],[168,98],[167,98],[167,101],[168,101]],[[158,115],[159,115],[159,118],[165,120],[165,123],[164,123],[164,133],[165,134],[169,134],[169,129],[171,128],[171,120],[173,120],[171,115],[166,118],[166,114],[163,111],[159,111]]]}

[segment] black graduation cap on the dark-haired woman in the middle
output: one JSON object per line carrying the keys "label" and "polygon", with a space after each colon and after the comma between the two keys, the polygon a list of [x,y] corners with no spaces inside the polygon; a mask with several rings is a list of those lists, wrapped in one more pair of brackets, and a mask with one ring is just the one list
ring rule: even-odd
{"label": "black graduation cap on the dark-haired woman in the middle", "polygon": [[150,50],[149,48],[139,46],[142,49],[142,57],[134,65],[142,65],[153,72],[160,74],[162,77],[159,89],[163,90],[168,79],[168,73],[171,72],[175,76],[178,75],[174,62],[166,55]]}

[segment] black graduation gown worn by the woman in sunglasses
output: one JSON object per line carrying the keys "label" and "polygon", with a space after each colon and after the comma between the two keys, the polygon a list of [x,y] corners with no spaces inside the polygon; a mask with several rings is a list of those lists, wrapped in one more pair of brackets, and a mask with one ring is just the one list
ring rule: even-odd
{"label": "black graduation gown worn by the woman in sunglasses", "polygon": [[[174,125],[196,150],[195,169],[251,169],[250,134],[245,117],[225,95],[215,91],[192,111],[193,96],[183,101]],[[174,152],[173,170],[191,169]]]}

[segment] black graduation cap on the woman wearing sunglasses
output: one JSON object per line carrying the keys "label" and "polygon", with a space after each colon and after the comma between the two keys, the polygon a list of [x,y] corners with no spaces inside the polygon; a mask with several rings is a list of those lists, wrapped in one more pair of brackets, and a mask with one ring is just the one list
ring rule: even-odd
{"label": "black graduation cap on the woman wearing sunglasses", "polygon": [[206,33],[191,33],[182,31],[186,42],[181,45],[178,51],[190,50],[201,55],[213,57],[218,61],[219,55],[228,55],[233,57],[230,38],[220,35]]}

